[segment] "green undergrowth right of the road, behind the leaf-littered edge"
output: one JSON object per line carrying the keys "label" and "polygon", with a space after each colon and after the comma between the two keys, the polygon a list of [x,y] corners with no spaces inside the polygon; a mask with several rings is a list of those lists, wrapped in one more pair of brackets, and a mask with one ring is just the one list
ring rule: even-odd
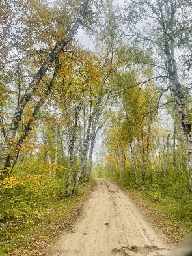
{"label": "green undergrowth right of the road, behind the leaf-littered edge", "polygon": [[[152,177],[151,177],[152,175]],[[191,190],[187,186],[187,173],[178,170],[178,175],[163,177],[162,173],[152,173],[143,180],[134,181],[133,172],[126,170],[124,177],[120,177],[120,171],[115,171],[113,177],[130,190],[137,190],[146,195],[154,204],[158,203],[165,207],[171,214],[172,219],[192,221],[192,198]]]}

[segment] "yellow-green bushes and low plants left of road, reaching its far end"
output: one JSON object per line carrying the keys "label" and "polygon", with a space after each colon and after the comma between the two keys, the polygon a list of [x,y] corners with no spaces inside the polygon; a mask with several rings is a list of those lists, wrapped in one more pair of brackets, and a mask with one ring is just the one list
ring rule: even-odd
{"label": "yellow-green bushes and low plants left of road, reaching its far end", "polygon": [[[33,160],[28,167],[31,170],[27,170],[28,175],[24,176],[23,170],[26,171],[27,166],[24,167],[23,164],[20,167],[20,177],[7,177],[1,186],[1,256],[18,247],[25,247],[29,243],[27,237],[31,232],[39,225],[46,225],[49,229],[52,221],[54,223],[60,214],[70,212],[70,208],[85,194],[85,188],[81,185],[77,197],[66,196],[66,168],[60,165],[56,167],[55,177],[49,175],[51,165],[42,164],[38,160]],[[85,185],[86,188],[89,186]],[[44,240],[48,239],[44,236]]]}

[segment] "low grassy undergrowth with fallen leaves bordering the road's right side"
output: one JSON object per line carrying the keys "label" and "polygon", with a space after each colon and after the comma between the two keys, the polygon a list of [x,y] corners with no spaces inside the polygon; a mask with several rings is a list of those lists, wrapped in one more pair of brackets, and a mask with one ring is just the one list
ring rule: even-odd
{"label": "low grassy undergrowth with fallen leaves bordering the road's right side", "polygon": [[192,195],[179,186],[133,184],[115,178],[129,190],[134,201],[144,208],[156,226],[163,229],[171,242],[177,243],[192,232]]}

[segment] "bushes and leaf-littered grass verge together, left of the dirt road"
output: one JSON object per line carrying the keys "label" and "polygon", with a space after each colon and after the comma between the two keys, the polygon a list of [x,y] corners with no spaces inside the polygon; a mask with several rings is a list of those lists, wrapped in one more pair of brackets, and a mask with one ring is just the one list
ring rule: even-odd
{"label": "bushes and leaf-littered grass verge together, left of the dirt road", "polygon": [[29,179],[29,186],[9,187],[4,193],[1,256],[42,255],[61,231],[70,229],[75,223],[94,186],[94,180],[80,184],[77,195],[67,197],[61,183],[44,178]]}

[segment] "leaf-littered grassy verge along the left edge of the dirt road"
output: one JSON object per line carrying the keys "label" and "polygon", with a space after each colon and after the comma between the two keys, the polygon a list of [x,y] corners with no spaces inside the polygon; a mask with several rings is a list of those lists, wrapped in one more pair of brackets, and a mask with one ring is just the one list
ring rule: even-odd
{"label": "leaf-littered grassy verge along the left edge of the dirt road", "polygon": [[[42,255],[64,229],[70,229],[77,220],[81,209],[93,187],[90,183],[81,184],[75,197],[64,197],[56,202],[48,202],[38,208],[39,216],[19,219],[1,225],[0,256]],[[33,216],[33,214],[31,214]]]}

